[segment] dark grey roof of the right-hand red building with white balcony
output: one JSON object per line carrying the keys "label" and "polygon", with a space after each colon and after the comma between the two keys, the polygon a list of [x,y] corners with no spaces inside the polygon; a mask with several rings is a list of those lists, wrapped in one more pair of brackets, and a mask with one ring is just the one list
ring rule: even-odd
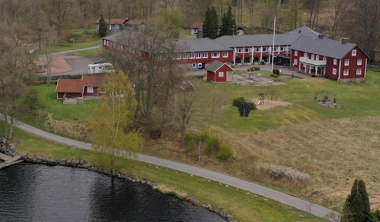
{"label": "dark grey roof of the right-hand red building with white balcony", "polygon": [[342,59],[357,45],[353,43],[342,44],[341,41],[331,39],[312,38],[301,36],[290,49],[308,52],[317,55],[323,55],[330,58]]}

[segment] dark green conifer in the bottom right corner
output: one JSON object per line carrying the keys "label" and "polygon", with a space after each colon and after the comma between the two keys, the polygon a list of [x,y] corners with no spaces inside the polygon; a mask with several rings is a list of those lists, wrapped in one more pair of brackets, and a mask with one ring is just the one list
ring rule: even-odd
{"label": "dark green conifer in the bottom right corner", "polygon": [[345,202],[345,215],[342,222],[370,222],[371,210],[366,185],[361,179],[355,179],[351,193]]}

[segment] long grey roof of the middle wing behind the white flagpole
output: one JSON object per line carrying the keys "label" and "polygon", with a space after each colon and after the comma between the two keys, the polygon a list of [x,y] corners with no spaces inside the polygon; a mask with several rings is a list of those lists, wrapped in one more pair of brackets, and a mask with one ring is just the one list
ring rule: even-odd
{"label": "long grey roof of the middle wing behind the white flagpole", "polygon": [[[315,37],[314,34],[305,34]],[[290,46],[302,34],[275,34],[275,46]],[[225,35],[214,39],[215,42],[228,47],[255,47],[255,46],[272,46],[273,34],[266,35]]]}

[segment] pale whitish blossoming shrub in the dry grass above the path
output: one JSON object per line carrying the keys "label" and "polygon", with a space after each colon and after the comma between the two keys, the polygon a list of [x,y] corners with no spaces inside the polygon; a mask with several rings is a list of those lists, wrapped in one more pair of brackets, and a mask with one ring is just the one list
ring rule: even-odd
{"label": "pale whitish blossoming shrub in the dry grass above the path", "polygon": [[269,174],[275,178],[286,178],[293,183],[307,183],[310,181],[310,175],[302,173],[293,167],[285,167],[281,165],[271,165],[269,167]]}

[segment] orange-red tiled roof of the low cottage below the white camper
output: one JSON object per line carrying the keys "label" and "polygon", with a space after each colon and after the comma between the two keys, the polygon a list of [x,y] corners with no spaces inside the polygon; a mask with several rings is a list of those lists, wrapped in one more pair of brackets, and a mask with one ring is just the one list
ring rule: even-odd
{"label": "orange-red tiled roof of the low cottage below the white camper", "polygon": [[105,76],[84,75],[82,79],[59,79],[56,93],[83,93],[85,86],[104,86]]}

